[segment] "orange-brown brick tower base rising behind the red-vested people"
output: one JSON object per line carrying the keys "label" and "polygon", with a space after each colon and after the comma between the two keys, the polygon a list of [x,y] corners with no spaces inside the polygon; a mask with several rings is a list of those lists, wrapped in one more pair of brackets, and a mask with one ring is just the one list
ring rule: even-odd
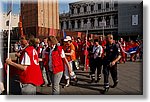
{"label": "orange-brown brick tower base rising behind the red-vested people", "polygon": [[50,28],[59,29],[58,0],[22,2],[21,14],[28,35],[48,36]]}

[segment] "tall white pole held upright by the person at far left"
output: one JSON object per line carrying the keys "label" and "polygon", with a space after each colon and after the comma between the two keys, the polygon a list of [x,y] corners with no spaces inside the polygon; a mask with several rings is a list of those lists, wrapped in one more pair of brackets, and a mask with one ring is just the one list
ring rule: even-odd
{"label": "tall white pole held upright by the person at far left", "polygon": [[[13,0],[11,1],[11,6],[13,5]],[[9,32],[8,32],[8,50],[7,50],[7,58],[9,58],[9,52],[10,52],[10,29],[11,29],[11,15],[12,15],[12,7],[9,14]],[[7,65],[7,95],[9,95],[9,65]]]}

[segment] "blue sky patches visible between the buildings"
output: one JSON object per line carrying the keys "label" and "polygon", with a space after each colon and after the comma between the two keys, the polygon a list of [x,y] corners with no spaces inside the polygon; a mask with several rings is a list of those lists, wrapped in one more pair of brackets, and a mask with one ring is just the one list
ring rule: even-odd
{"label": "blue sky patches visible between the buildings", "polygon": [[[69,3],[76,2],[81,0],[59,0],[59,12],[68,12]],[[1,0],[2,2],[2,11],[7,12],[7,0]],[[20,0],[13,0],[13,13],[18,14],[20,12]]]}

